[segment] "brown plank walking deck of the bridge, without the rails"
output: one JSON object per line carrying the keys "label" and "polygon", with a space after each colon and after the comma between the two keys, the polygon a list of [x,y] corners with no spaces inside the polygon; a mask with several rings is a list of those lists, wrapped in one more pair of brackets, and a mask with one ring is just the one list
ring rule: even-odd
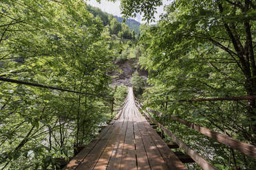
{"label": "brown plank walking deck of the bridge, without the rails", "polygon": [[142,117],[129,88],[120,118],[105,127],[64,169],[186,168]]}

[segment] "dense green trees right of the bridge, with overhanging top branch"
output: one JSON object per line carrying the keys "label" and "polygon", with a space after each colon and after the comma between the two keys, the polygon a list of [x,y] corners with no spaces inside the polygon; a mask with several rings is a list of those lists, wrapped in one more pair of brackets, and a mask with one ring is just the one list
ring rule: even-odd
{"label": "dense green trees right of the bridge, with overhanging top branch", "polygon": [[[150,20],[162,1],[122,0],[122,12]],[[254,169],[256,161],[171,121],[169,114],[256,145],[255,100],[168,104],[166,100],[256,95],[255,1],[176,0],[157,25],[145,27],[140,64],[152,85],[148,106],[165,124],[219,169]],[[195,167],[193,168],[195,169]]]}

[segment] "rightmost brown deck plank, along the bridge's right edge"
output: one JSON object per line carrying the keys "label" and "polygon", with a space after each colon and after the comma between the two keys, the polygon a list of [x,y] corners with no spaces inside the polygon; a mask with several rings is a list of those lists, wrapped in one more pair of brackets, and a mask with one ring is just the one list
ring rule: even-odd
{"label": "rightmost brown deck plank, along the bridge's right edge", "polygon": [[162,155],[162,158],[164,158],[165,163],[169,167],[169,169],[173,170],[184,170],[186,167],[183,165],[183,163],[179,160],[177,156],[169,149],[166,143],[162,141],[162,138],[158,135],[158,133],[153,130],[153,128],[149,125],[149,123],[145,123],[145,127],[147,128],[147,131],[151,138],[153,139],[153,142],[155,143],[156,147],[158,147],[158,151]]}

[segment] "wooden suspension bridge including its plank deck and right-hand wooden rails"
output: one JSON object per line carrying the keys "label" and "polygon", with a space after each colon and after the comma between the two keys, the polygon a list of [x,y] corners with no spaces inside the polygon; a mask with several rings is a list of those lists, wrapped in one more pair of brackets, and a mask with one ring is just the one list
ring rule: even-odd
{"label": "wooden suspension bridge including its plank deck and right-hand wooden rails", "polygon": [[[244,97],[242,97],[244,99]],[[160,112],[146,108],[135,100],[132,88],[125,99],[122,109],[105,129],[94,140],[83,147],[63,170],[82,169],[186,169],[184,163],[197,163],[204,170],[217,169],[205,160],[200,154],[158,123],[148,112],[161,117]],[[143,117],[140,110],[145,114]],[[200,132],[233,149],[241,151],[256,159],[256,147],[242,143],[235,138],[220,134],[206,127],[170,116],[193,130]],[[151,122],[151,123],[150,123]],[[159,134],[154,129],[159,127]],[[162,138],[167,135],[174,143],[164,143]],[[182,152],[173,152],[171,149],[181,148]]]}

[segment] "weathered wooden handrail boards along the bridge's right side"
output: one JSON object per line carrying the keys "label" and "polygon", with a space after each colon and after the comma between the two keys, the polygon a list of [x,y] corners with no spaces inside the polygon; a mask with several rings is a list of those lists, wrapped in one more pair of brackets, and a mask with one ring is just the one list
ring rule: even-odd
{"label": "weathered wooden handrail boards along the bridge's right side", "polygon": [[[148,113],[148,112],[151,112],[151,113],[155,114],[158,117],[162,117],[162,112],[152,110],[151,108],[146,108],[146,110],[148,112],[145,112],[145,110],[142,109],[142,106],[144,106],[144,105],[140,104],[139,101],[136,101],[136,106],[138,106],[138,108],[140,108],[142,110],[142,112],[145,113],[145,115],[151,121],[153,121],[153,123],[156,123],[156,125],[158,125],[158,127],[160,127],[160,129],[163,132],[165,132],[168,136],[170,136],[173,139],[173,141],[180,146],[180,148],[184,149],[186,154],[191,156],[191,158],[193,160],[195,160],[195,162],[197,162],[198,165],[200,165],[200,167],[202,167],[202,169],[216,169],[208,161],[204,160],[204,158],[202,158],[202,156],[200,156],[196,151],[194,151],[193,149],[188,147],[185,143],[183,143],[180,140],[180,138],[175,136],[171,131],[167,130],[167,128],[164,127],[164,125],[162,125],[161,123],[158,123],[155,119],[153,119],[153,117],[151,117],[151,115]],[[244,143],[244,142],[239,141],[235,138],[231,138],[230,136],[220,134],[219,132],[215,132],[213,130],[209,130],[206,127],[197,125],[197,124],[189,122],[189,121],[185,121],[185,120],[180,119],[178,117],[175,117],[173,115],[169,115],[169,117],[171,119],[173,119],[174,121],[178,121],[179,123],[182,123],[183,125],[186,125],[186,126],[190,127],[191,129],[200,132],[201,134],[209,136],[210,138],[213,138],[216,141],[218,141],[220,143],[223,143],[224,145],[226,145],[228,147],[231,147],[233,149],[241,151],[243,154],[246,154],[247,156],[250,156],[250,157],[256,159],[256,147],[255,147],[255,145],[250,145],[248,143]]]}

